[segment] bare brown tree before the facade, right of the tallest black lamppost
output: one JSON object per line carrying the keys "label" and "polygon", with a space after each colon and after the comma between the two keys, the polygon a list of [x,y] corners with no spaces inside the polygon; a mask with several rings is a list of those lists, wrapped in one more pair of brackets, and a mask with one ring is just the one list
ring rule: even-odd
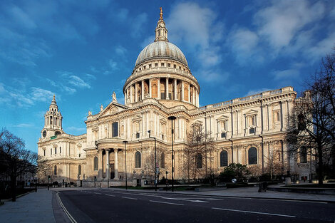
{"label": "bare brown tree before the facade, right of the tallest black lamppost", "polygon": [[[207,177],[207,161],[212,162],[214,149],[214,139],[210,137],[210,133],[205,133],[201,124],[192,125],[192,130],[187,134],[187,146],[184,149],[183,169],[188,179]],[[210,174],[212,171],[210,168]]]}

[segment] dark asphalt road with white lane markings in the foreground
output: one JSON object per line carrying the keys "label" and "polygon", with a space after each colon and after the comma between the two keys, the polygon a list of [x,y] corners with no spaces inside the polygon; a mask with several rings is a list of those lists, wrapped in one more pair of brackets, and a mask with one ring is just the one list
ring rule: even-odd
{"label": "dark asphalt road with white lane markings in the foreground", "polygon": [[335,204],[114,190],[62,191],[76,222],[334,222]]}

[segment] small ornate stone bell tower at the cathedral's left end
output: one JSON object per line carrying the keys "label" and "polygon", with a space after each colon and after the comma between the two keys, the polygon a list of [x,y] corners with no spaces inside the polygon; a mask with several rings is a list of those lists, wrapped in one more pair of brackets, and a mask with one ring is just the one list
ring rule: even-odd
{"label": "small ornate stone bell tower at the cathedral's left end", "polygon": [[44,128],[42,130],[42,138],[61,135],[63,133],[62,127],[63,117],[58,110],[55,95],[49,106],[49,110],[44,115]]}

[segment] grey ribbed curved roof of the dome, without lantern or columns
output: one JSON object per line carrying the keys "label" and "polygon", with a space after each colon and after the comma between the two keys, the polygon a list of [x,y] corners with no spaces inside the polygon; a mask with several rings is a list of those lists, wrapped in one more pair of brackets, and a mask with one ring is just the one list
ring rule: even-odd
{"label": "grey ribbed curved roof of the dome, without lantern or columns", "polygon": [[184,53],[175,44],[168,41],[155,41],[146,46],[138,55],[135,66],[152,58],[170,58],[188,66]]}

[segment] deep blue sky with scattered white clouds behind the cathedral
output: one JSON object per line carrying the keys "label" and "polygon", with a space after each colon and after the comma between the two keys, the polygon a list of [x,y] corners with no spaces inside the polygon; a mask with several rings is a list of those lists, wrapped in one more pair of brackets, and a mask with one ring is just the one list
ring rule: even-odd
{"label": "deep blue sky with scattered white clouds behind the cathedral", "polygon": [[200,105],[292,85],[335,46],[335,1],[1,1],[0,128],[37,151],[53,94],[63,130],[85,133],[154,40],[169,41],[200,83]]}

